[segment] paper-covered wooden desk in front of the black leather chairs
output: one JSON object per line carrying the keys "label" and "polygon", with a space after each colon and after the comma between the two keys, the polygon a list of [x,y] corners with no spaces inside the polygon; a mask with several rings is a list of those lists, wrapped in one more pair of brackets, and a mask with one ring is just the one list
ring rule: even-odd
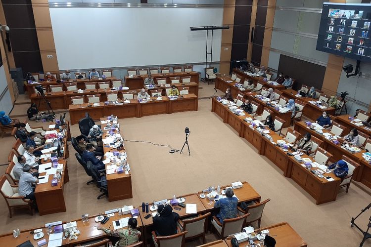
{"label": "paper-covered wooden desk in front of the black leather chairs", "polygon": [[[100,121],[107,121],[107,118],[100,118]],[[111,124],[113,122],[111,121]],[[103,131],[102,139],[107,138],[109,136],[108,133],[106,133],[107,130],[104,129],[104,127],[107,127],[107,124],[101,124],[101,129]],[[109,127],[109,126],[108,126]],[[113,130],[115,134],[120,133],[118,129]],[[124,154],[125,151],[125,145],[123,150],[117,150],[108,145],[103,145],[103,151],[104,154],[107,152],[119,152],[120,154]],[[106,156],[104,156],[104,160],[109,159]],[[112,160],[111,160],[112,161]],[[112,162],[106,164],[106,169],[108,165],[111,165]],[[129,164],[129,162],[128,162]],[[113,173],[113,174],[107,174],[107,189],[108,189],[108,201],[118,201],[128,198],[133,198],[133,189],[132,189],[132,175],[129,171],[129,174],[125,173]]]}

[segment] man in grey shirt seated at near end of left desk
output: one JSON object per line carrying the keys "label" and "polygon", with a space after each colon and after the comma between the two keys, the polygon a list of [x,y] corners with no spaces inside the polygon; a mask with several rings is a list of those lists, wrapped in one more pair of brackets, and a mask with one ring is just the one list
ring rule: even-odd
{"label": "man in grey shirt seated at near end of left desk", "polygon": [[19,178],[18,193],[24,199],[35,200],[35,184],[39,183],[39,179],[30,174],[30,165],[23,165],[23,172]]}

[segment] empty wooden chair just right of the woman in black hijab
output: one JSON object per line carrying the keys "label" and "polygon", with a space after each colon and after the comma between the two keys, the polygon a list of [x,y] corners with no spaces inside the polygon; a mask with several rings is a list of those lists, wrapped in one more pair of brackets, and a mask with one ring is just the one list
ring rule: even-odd
{"label": "empty wooden chair just right of the woman in black hijab", "polygon": [[203,243],[205,244],[205,233],[207,231],[206,221],[210,215],[211,212],[208,212],[203,215],[198,214],[198,216],[194,218],[185,218],[183,220],[178,219],[178,226],[181,229],[181,232],[187,231],[187,234],[185,234],[185,240],[202,237]]}

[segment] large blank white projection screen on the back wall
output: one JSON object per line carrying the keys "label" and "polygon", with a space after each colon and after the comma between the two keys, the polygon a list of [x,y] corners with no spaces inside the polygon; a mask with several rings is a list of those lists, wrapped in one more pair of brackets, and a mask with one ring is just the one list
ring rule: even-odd
{"label": "large blank white projection screen on the back wall", "polygon": [[[206,31],[223,8],[50,8],[60,70],[205,62]],[[211,45],[209,31],[209,50]],[[213,61],[221,30],[214,30]]]}

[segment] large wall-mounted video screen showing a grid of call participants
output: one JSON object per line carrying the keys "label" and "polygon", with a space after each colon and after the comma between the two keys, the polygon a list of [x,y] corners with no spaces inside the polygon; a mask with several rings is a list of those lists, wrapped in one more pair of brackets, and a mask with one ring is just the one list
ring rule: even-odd
{"label": "large wall-mounted video screen showing a grid of call participants", "polygon": [[371,4],[324,2],[317,50],[371,61]]}

